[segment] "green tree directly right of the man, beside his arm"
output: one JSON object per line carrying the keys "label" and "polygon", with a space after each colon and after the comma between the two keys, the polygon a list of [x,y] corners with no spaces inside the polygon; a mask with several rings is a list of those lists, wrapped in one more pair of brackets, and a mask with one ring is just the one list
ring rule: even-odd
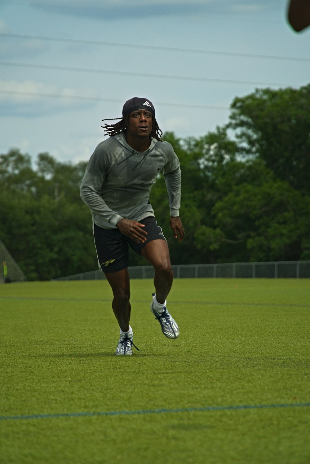
{"label": "green tree directly right of the man, beside his arm", "polygon": [[219,173],[235,159],[236,143],[227,137],[225,128],[194,138],[180,139],[171,132],[163,139],[171,143],[180,160],[182,172],[181,219],[185,226],[185,241],[179,244],[169,227],[169,209],[164,178],[159,174],[150,195],[156,219],[161,224],[168,240],[173,264],[196,264],[210,262],[209,250],[198,250],[195,235],[200,227],[213,225],[211,209],[221,198],[217,186]]}

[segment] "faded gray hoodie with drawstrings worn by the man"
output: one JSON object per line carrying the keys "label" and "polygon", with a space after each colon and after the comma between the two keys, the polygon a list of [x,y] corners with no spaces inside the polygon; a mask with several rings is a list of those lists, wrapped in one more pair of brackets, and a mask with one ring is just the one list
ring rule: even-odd
{"label": "faded gray hoodie with drawstrings worn by the man", "polygon": [[128,145],[123,131],[99,143],[80,189],[93,222],[115,229],[123,218],[139,221],[154,216],[149,193],[159,172],[165,178],[170,216],[179,216],[181,170],[170,143],[152,138],[149,148],[140,153]]}

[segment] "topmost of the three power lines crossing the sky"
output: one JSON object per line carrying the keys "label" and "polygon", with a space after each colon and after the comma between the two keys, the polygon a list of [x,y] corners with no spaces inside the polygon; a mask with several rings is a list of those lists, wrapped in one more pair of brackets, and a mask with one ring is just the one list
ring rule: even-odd
{"label": "topmost of the three power lines crossing the sky", "polygon": [[267,58],[267,59],[282,59],[290,61],[310,61],[310,58],[296,58],[296,57],[283,57],[277,55],[258,55],[254,53],[237,53],[237,52],[217,52],[213,50],[198,50],[190,48],[177,48],[177,47],[161,47],[158,45],[136,45],[136,44],[122,44],[117,42],[102,42],[99,40],[82,40],[82,39],[61,39],[57,37],[44,37],[35,35],[22,35],[22,34],[6,34],[0,33],[2,37],[11,37],[15,39],[36,39],[36,40],[50,40],[54,42],[71,42],[77,44],[89,44],[89,45],[106,45],[113,47],[128,47],[128,48],[142,48],[148,50],[161,50],[170,52],[186,52],[186,53],[202,53],[208,55],[224,55],[224,56],[235,56],[244,58]]}

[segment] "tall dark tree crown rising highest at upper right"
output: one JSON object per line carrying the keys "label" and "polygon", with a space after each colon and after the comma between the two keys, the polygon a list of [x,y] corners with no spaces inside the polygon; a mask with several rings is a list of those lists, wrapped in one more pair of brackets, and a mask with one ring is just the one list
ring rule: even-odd
{"label": "tall dark tree crown rising highest at upper right", "polygon": [[258,156],[276,177],[310,192],[310,84],[300,89],[256,89],[231,105],[229,127],[239,153]]}

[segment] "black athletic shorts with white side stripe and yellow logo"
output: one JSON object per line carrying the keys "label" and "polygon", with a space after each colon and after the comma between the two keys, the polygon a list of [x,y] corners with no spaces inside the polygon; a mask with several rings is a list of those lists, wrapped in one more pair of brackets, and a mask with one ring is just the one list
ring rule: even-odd
{"label": "black athletic shorts with white side stripe and yellow logo", "polygon": [[157,226],[154,216],[149,216],[137,222],[145,224],[143,230],[148,232],[144,243],[134,242],[131,238],[122,234],[119,229],[103,229],[96,224],[93,225],[95,246],[101,271],[106,273],[126,269],[129,265],[128,245],[141,255],[141,250],[147,243],[158,239],[166,240],[161,227]]}

